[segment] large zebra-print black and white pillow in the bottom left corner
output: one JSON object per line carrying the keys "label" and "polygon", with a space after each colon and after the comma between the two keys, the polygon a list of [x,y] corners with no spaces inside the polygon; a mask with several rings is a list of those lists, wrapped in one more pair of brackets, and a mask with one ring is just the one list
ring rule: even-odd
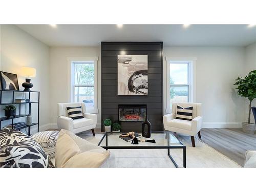
{"label": "large zebra-print black and white pillow in the bottom left corner", "polygon": [[17,130],[0,131],[0,148],[0,167],[54,167],[41,146]]}

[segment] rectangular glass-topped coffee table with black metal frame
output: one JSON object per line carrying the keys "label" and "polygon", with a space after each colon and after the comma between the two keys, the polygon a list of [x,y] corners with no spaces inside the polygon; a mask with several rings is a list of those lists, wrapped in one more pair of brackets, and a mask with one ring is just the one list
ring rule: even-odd
{"label": "rectangular glass-topped coffee table with black metal frame", "polygon": [[[138,132],[136,132],[138,133]],[[119,138],[120,134],[124,132],[106,132],[101,138],[98,146],[105,148],[105,150],[125,150],[125,149],[167,149],[167,155],[176,167],[179,167],[173,157],[170,155],[170,149],[180,148],[183,150],[183,167],[186,167],[186,146],[183,145],[172,133],[169,131],[152,132],[151,138],[140,137],[139,139],[151,140],[155,139],[156,143],[139,142],[139,144],[132,144],[132,141],[126,142]],[[141,135],[141,133],[138,133]]]}

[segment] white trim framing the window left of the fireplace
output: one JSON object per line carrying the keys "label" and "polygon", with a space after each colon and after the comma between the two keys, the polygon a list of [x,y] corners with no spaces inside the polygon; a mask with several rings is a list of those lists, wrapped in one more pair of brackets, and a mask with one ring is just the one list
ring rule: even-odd
{"label": "white trim framing the window left of the fireplace", "polygon": [[74,82],[73,82],[73,69],[72,62],[75,61],[94,61],[94,109],[86,109],[88,113],[98,114],[98,57],[68,57],[68,100],[74,102]]}

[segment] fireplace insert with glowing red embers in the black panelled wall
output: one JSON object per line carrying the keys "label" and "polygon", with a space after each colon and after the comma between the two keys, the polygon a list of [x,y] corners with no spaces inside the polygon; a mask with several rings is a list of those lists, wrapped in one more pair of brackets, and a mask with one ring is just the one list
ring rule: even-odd
{"label": "fireplace insert with glowing red embers in the black panelled wall", "polygon": [[146,104],[119,104],[119,121],[144,121],[146,117]]}

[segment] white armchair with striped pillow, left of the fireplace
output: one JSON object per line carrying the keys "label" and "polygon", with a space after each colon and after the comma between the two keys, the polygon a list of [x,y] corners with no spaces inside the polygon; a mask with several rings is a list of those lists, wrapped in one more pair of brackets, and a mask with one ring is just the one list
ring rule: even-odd
{"label": "white armchair with striped pillow, left of the fireplace", "polygon": [[[67,111],[67,107],[82,106],[83,119],[71,119]],[[95,136],[94,128],[97,124],[97,115],[86,113],[85,103],[58,103],[58,117],[57,125],[59,129],[65,129],[73,132],[74,134],[87,130],[92,130],[93,136]]]}

